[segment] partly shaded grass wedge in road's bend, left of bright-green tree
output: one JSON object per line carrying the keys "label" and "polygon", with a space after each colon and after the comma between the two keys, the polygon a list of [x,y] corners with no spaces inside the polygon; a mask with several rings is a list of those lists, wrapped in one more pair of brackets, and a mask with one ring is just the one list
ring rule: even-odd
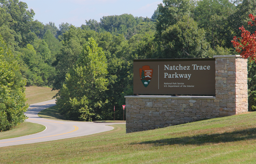
{"label": "partly shaded grass wedge in road's bend, left of bright-green tree", "polygon": [[41,110],[38,113],[39,117],[46,118],[46,119],[52,119],[52,120],[65,120],[65,117],[63,117],[56,106],[51,106],[47,109]]}

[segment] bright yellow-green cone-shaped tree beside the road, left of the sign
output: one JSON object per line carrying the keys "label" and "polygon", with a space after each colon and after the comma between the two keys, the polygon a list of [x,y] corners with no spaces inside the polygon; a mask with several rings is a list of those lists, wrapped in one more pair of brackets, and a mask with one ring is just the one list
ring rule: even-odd
{"label": "bright yellow-green cone-shaped tree beside the road, left of the sign", "polygon": [[57,97],[56,105],[67,119],[100,119],[102,106],[107,103],[102,98],[108,85],[106,62],[102,48],[89,38]]}

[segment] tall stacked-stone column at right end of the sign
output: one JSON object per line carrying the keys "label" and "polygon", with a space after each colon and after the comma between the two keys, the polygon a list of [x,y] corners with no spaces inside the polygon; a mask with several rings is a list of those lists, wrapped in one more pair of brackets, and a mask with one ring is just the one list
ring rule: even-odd
{"label": "tall stacked-stone column at right end of the sign", "polygon": [[216,107],[219,116],[248,111],[247,59],[240,55],[218,55],[215,58]]}

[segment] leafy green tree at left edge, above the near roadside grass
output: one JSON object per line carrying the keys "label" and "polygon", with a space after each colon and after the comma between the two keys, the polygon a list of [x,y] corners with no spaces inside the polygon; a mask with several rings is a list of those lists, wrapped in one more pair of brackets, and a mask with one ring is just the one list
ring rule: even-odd
{"label": "leafy green tree at left edge, above the near roadside grass", "polygon": [[25,84],[14,55],[0,36],[0,131],[18,126],[26,119]]}

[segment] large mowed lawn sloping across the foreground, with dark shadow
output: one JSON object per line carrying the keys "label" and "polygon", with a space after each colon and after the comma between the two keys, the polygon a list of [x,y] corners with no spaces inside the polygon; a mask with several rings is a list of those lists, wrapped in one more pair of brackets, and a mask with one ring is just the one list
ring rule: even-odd
{"label": "large mowed lawn sloping across the foreground, with dark shadow", "polygon": [[100,134],[0,148],[0,163],[239,164],[256,163],[256,112],[125,133]]}

